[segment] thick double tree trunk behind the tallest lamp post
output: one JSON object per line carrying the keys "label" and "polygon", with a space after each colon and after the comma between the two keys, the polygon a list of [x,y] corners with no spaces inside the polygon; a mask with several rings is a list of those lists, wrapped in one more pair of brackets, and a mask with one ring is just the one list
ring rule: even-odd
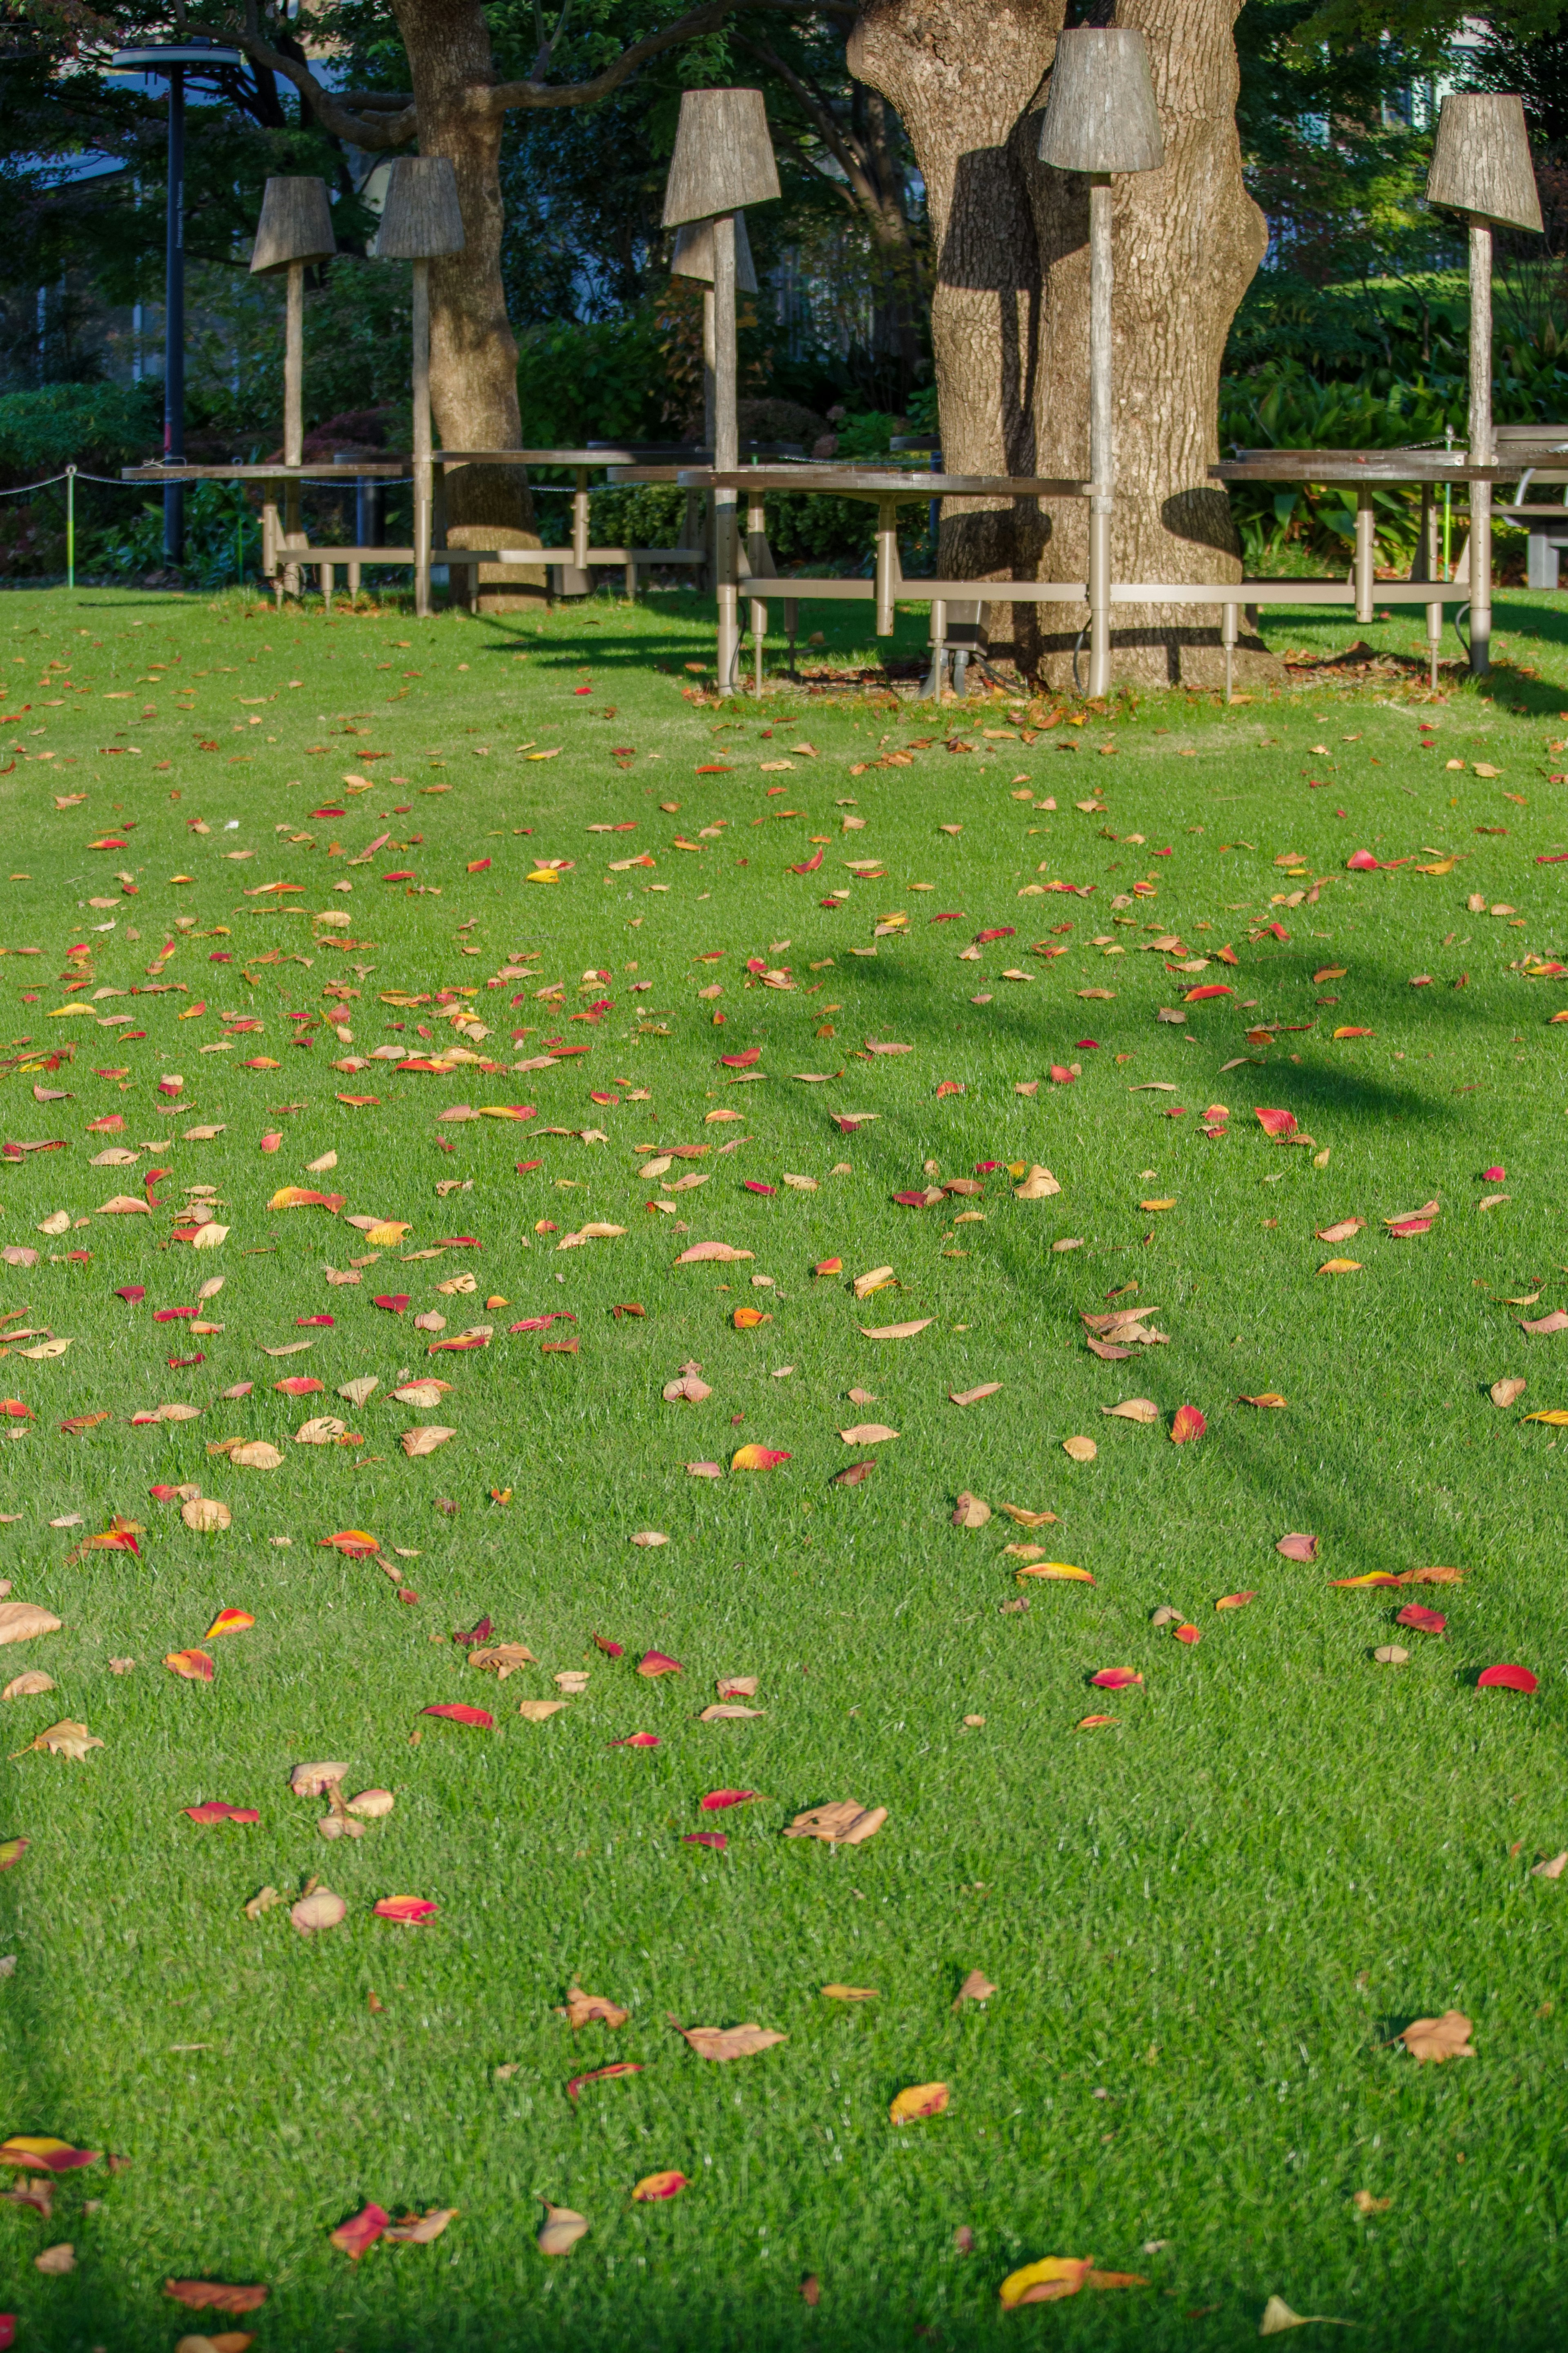
{"label": "thick double tree trunk behind the tallest lamp post", "polygon": [[[1241,184],[1239,0],[1121,0],[1150,40],[1166,134],[1159,172],[1114,184],[1114,579],[1241,576],[1218,456],[1218,379],[1267,231]],[[849,71],[882,89],[926,179],[938,282],[931,336],[950,473],[1088,475],[1088,195],[1037,158],[1063,0],[870,0]],[[1046,501],[943,518],[940,569],[971,579],[1084,579],[1088,508]],[[1013,605],[1020,664],[1072,678],[1088,607]],[[992,607],[992,624],[1006,607]],[[1117,678],[1211,682],[1213,607],[1117,607]],[[1262,647],[1239,668],[1267,664]]]}

